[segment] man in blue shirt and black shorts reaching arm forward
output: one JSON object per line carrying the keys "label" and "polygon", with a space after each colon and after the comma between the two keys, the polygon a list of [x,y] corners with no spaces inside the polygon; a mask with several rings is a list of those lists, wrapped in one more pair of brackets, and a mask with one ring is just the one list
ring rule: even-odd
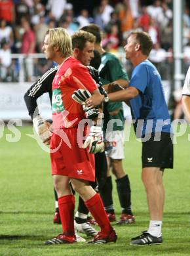
{"label": "man in blue shirt and black shorts reaching arm forward", "polygon": [[170,116],[164,99],[159,72],[147,60],[153,47],[145,32],[132,32],[124,46],[126,59],[134,66],[127,89],[109,93],[107,97],[92,96],[86,100],[89,107],[100,102],[125,101],[130,104],[136,137],[142,138],[142,181],[147,193],[150,222],[140,236],[132,238],[132,245],[162,243],[162,215],[165,168],[173,168],[173,144]]}

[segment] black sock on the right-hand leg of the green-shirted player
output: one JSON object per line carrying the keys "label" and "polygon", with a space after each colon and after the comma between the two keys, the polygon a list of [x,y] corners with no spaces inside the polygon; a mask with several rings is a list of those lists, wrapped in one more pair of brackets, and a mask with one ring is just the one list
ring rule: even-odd
{"label": "black sock on the right-hand leg of the green-shirted player", "polygon": [[130,181],[128,179],[128,175],[125,175],[121,179],[117,179],[116,184],[119,202],[121,207],[123,208],[122,213],[132,215],[130,200]]}

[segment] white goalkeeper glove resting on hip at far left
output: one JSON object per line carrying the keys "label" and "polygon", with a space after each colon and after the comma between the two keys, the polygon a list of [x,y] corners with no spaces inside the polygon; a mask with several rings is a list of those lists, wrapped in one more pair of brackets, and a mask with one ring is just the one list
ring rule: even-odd
{"label": "white goalkeeper glove resting on hip at far left", "polygon": [[50,123],[38,115],[37,117],[33,118],[33,127],[43,143],[48,145],[50,143],[50,138],[52,137]]}

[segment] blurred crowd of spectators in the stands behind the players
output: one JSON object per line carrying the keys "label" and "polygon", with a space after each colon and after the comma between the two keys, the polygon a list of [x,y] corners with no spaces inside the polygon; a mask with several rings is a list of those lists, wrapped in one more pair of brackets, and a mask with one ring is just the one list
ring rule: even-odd
{"label": "blurred crowd of spectators in the stands behind the players", "polygon": [[[117,54],[130,77],[123,46],[132,30],[148,32],[153,39],[149,56],[162,79],[172,81],[172,0],[1,0],[0,82],[35,81],[53,64],[41,48],[48,28],[63,27],[72,35],[96,23],[102,28],[103,47]],[[190,3],[183,13],[183,73],[190,64]]]}

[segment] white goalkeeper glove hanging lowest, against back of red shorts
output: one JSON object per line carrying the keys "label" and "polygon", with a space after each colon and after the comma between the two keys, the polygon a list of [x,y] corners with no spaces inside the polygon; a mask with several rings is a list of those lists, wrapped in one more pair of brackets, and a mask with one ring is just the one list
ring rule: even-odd
{"label": "white goalkeeper glove hanging lowest, against back of red shorts", "polygon": [[87,147],[88,147],[88,152],[92,154],[96,154],[98,152],[104,151],[102,127],[100,126],[90,127],[90,133],[83,144],[83,148],[87,148]]}

